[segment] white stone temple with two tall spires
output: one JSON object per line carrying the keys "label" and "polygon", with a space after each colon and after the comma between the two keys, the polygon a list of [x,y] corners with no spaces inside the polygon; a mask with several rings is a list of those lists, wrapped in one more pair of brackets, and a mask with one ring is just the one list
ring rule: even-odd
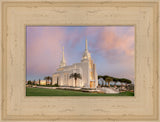
{"label": "white stone temple with two tall spires", "polygon": [[[81,79],[78,78],[76,84],[75,79],[70,78],[72,73],[78,73],[81,75]],[[63,56],[59,68],[52,77],[52,84],[54,85],[56,83],[58,83],[59,86],[75,87],[76,85],[76,87],[97,88],[98,76],[96,72],[96,64],[94,64],[91,59],[91,54],[88,51],[87,40],[85,44],[85,51],[80,63],[66,65],[63,48]]]}

